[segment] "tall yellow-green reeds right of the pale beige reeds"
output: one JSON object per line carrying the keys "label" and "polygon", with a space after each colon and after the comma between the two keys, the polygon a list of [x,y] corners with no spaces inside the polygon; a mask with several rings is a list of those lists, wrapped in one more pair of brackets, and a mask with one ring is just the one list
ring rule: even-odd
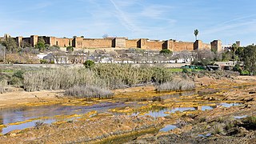
{"label": "tall yellow-green reeds right of the pale beige reeds", "polygon": [[98,64],[94,66],[93,71],[101,79],[104,79],[106,86],[111,89],[134,86],[146,82],[162,83],[172,78],[170,71],[164,67]]}

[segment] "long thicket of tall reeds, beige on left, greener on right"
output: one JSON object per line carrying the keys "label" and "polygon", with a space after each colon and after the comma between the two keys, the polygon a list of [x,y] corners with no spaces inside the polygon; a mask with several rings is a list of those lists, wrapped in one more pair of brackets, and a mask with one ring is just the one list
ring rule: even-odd
{"label": "long thicket of tall reeds, beige on left, greener on right", "polygon": [[148,82],[167,82],[171,73],[164,67],[99,64],[91,70],[61,68],[28,71],[23,77],[26,91],[66,90],[73,86],[117,89]]}

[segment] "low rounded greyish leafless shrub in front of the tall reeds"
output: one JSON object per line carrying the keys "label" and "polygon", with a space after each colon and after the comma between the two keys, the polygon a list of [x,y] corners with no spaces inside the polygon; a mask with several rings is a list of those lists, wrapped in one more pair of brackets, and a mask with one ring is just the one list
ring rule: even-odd
{"label": "low rounded greyish leafless shrub in front of the tall reeds", "polygon": [[66,90],[66,95],[74,98],[109,98],[113,93],[98,86],[73,86]]}

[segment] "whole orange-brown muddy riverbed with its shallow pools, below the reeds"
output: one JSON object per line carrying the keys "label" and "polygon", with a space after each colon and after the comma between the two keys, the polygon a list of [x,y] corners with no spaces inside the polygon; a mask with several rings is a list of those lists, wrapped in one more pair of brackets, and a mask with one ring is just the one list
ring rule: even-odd
{"label": "whole orange-brown muddy riverbed with its shallow pools, below the reeds", "polygon": [[17,92],[2,105],[0,142],[214,142],[230,133],[213,133],[214,126],[224,126],[223,119],[255,115],[254,77],[197,78],[196,82],[197,90],[156,93],[154,86],[134,87],[114,90],[114,97],[108,99],[70,99],[61,90],[22,92],[18,98]]}

